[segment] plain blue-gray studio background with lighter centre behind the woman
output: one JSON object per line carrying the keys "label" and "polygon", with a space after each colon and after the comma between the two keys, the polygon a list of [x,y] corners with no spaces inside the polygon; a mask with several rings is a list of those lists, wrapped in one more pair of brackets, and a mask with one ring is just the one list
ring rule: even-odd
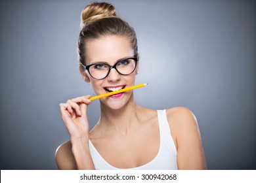
{"label": "plain blue-gray studio background with lighter centre behind the woman", "polygon": [[[81,10],[91,1],[1,1],[1,169],[56,169],[69,140],[59,103],[94,94],[78,71]],[[256,169],[253,1],[112,1],[137,31],[139,105],[184,106],[209,169]],[[89,107],[91,127],[98,101]]]}

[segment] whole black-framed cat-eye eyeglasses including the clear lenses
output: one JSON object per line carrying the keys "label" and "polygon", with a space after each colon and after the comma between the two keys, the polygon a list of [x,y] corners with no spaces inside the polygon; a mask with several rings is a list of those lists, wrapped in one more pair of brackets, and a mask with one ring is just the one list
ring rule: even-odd
{"label": "whole black-framed cat-eye eyeglasses including the clear lenses", "polygon": [[96,80],[102,80],[110,74],[111,69],[116,69],[120,75],[131,75],[135,71],[138,59],[122,58],[117,60],[115,65],[108,65],[107,63],[93,63],[91,65],[83,65],[80,63],[88,73]]}

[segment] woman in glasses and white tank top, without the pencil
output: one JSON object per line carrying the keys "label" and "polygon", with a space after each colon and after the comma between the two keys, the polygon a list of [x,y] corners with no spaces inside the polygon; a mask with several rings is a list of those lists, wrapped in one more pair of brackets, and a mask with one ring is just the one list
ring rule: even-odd
{"label": "woman in glasses and white tank top, without the pencil", "polygon": [[[88,5],[81,25],[79,70],[96,95],[134,86],[137,38],[114,6]],[[56,150],[58,169],[206,169],[198,124],[187,108],[140,107],[130,90],[100,99],[100,118],[89,132],[90,97],[60,104],[70,141]]]}

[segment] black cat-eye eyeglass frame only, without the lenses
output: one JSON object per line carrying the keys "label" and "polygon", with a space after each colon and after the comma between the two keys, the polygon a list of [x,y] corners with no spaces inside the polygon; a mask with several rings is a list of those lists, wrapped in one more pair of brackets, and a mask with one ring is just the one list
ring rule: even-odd
{"label": "black cat-eye eyeglass frame only, without the lenses", "polygon": [[[108,65],[108,63],[102,63],[102,64],[108,65],[108,67],[109,67],[109,69],[108,69],[108,74],[107,74],[106,76],[104,76],[104,78],[106,78],[106,77],[110,74],[111,69],[116,69],[116,71],[117,71],[117,73],[119,73],[119,75],[124,75],[124,74],[122,74],[122,73],[120,73],[120,72],[118,71],[118,69],[116,68],[116,65],[117,65],[117,63],[119,63],[119,61],[123,61],[123,60],[125,60],[125,59],[133,59],[133,60],[135,61],[135,67],[134,67],[133,71],[131,71],[131,73],[133,73],[133,72],[135,71],[136,67],[137,67],[137,62],[139,61],[138,58],[137,58],[137,57],[121,58],[121,59],[118,59],[114,65]],[[100,63],[93,63],[93,64],[90,64],[90,65],[83,65],[83,63],[80,63],[80,65],[83,66],[83,69],[85,69],[85,70],[88,71],[89,75],[91,75],[91,73],[90,73],[90,71],[89,71],[89,68],[90,68],[91,66],[97,65],[97,64],[100,64]],[[129,73],[129,74],[127,74],[127,75],[131,75],[131,73]],[[127,76],[127,75],[124,75],[124,76]],[[91,76],[92,76],[92,75],[91,75]],[[95,78],[94,76],[92,76],[92,77]],[[102,79],[104,79],[104,78],[100,78],[100,79],[95,78],[95,80],[102,80]]]}

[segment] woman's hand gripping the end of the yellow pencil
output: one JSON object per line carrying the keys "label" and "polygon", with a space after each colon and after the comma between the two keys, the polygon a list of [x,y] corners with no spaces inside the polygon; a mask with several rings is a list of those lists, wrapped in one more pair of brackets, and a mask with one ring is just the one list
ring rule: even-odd
{"label": "woman's hand gripping the end of the yellow pencil", "polygon": [[71,139],[89,139],[89,122],[87,119],[87,107],[91,104],[91,95],[69,99],[66,103],[60,103],[62,120],[68,129]]}

